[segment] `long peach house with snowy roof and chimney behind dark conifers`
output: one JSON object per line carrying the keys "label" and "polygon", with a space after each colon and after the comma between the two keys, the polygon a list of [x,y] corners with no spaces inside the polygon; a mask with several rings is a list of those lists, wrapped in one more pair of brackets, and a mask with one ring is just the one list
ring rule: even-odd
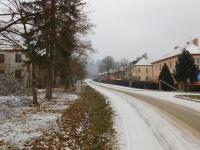
{"label": "long peach house with snowy roof and chimney behind dark conifers", "polygon": [[194,39],[192,42],[187,42],[184,46],[176,46],[173,51],[164,55],[163,57],[154,60],[152,62],[153,68],[153,81],[158,82],[159,74],[162,66],[166,63],[169,67],[171,74],[175,72],[176,62],[178,61],[178,55],[180,55],[185,48],[195,59],[195,64],[200,69],[200,42],[199,39]]}

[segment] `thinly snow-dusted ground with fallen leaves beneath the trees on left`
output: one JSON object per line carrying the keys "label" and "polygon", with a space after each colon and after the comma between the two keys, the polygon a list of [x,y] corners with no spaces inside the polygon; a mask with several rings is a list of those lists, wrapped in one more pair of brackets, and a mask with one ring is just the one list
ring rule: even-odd
{"label": "thinly snow-dusted ground with fallen leaves beneath the trees on left", "polygon": [[52,101],[44,96],[39,92],[40,107],[33,107],[30,97],[0,97],[0,149],[23,149],[43,132],[60,130],[56,121],[78,98],[60,91],[53,93]]}

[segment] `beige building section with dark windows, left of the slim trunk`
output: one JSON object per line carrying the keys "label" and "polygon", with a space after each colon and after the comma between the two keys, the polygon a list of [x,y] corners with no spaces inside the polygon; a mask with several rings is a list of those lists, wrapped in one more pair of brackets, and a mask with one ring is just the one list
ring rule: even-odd
{"label": "beige building section with dark windows, left of the slim trunk", "polygon": [[30,75],[24,60],[26,56],[20,50],[0,49],[0,74],[6,74],[28,87]]}

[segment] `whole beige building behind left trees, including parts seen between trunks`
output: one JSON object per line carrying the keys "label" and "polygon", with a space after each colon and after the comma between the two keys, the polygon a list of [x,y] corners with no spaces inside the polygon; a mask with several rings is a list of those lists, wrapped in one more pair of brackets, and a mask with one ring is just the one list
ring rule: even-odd
{"label": "whole beige building behind left trees, including parts seen between trunks", "polygon": [[[25,64],[28,58],[20,51],[14,49],[0,49],[0,74],[6,74],[7,76],[17,80],[22,86],[26,88],[31,87],[31,65],[28,68]],[[45,88],[47,71],[45,64],[38,63],[36,65],[36,79],[37,87]],[[53,86],[60,87],[64,83],[64,79],[58,74],[53,73]]]}

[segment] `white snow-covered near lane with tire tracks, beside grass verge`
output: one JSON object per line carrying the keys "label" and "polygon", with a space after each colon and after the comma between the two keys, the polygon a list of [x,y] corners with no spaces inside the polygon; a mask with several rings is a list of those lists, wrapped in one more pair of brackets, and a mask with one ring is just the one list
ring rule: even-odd
{"label": "white snow-covered near lane with tire tracks, beside grass verge", "polygon": [[[94,85],[106,95],[123,123],[126,147],[136,150],[199,150],[199,143],[171,125],[152,106],[116,89]],[[121,142],[121,143],[123,143]]]}

